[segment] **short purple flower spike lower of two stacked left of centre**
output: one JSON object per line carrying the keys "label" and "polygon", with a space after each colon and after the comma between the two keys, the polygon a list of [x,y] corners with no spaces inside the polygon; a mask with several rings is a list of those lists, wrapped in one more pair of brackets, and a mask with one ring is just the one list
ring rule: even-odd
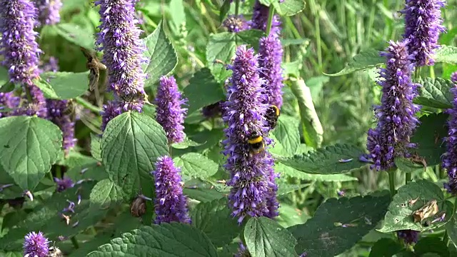
{"label": "short purple flower spike lower of two stacked left of centre", "polygon": [[187,198],[181,185],[181,168],[174,166],[169,156],[161,156],[156,162],[156,224],[177,221],[191,223],[187,210]]}

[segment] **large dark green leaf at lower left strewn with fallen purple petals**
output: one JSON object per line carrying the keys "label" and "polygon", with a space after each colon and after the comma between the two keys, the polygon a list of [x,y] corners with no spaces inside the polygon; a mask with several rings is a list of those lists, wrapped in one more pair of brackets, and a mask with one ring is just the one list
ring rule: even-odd
{"label": "large dark green leaf at lower left strewn with fallen purple petals", "polygon": [[[17,224],[16,228],[11,229],[4,238],[0,238],[0,248],[10,251],[21,249],[24,235],[30,231],[42,231],[49,240],[59,241],[59,236],[69,238],[99,223],[108,210],[95,205],[90,206],[89,194],[94,184],[93,181],[83,182],[74,188],[54,193],[51,198],[44,201],[43,205],[34,208],[23,221]],[[79,204],[78,195],[81,196]],[[74,202],[75,206],[74,213],[64,212],[70,216],[67,225],[61,213],[64,208],[69,207],[68,201]]]}

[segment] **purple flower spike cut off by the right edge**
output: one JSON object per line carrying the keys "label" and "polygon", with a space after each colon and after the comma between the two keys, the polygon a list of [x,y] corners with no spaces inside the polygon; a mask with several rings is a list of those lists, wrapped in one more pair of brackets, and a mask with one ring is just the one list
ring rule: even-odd
{"label": "purple flower spike cut off by the right edge", "polygon": [[457,71],[451,75],[451,81],[454,83],[454,87],[451,89],[454,100],[452,101],[453,108],[447,110],[450,116],[448,121],[449,130],[448,136],[444,138],[447,151],[443,155],[443,168],[448,171],[449,181],[444,184],[444,188],[449,193],[457,195]]}

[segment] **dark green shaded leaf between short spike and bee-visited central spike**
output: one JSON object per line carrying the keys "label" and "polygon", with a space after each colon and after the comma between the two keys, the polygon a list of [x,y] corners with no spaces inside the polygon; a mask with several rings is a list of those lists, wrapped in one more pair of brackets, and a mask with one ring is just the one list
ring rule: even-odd
{"label": "dark green shaded leaf between short spike and bee-visited central spike", "polygon": [[197,71],[184,88],[184,96],[188,99],[188,114],[198,111],[226,98],[221,83],[216,82],[208,68]]}

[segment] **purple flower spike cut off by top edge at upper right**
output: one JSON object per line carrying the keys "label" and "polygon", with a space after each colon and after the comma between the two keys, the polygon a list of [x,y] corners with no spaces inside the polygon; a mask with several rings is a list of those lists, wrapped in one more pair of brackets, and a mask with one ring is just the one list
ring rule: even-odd
{"label": "purple flower spike cut off by top edge at upper right", "polygon": [[433,54],[438,46],[440,32],[446,31],[441,25],[441,0],[406,0],[402,14],[405,14],[405,34],[409,39],[408,49],[414,56],[416,66],[433,65]]}

